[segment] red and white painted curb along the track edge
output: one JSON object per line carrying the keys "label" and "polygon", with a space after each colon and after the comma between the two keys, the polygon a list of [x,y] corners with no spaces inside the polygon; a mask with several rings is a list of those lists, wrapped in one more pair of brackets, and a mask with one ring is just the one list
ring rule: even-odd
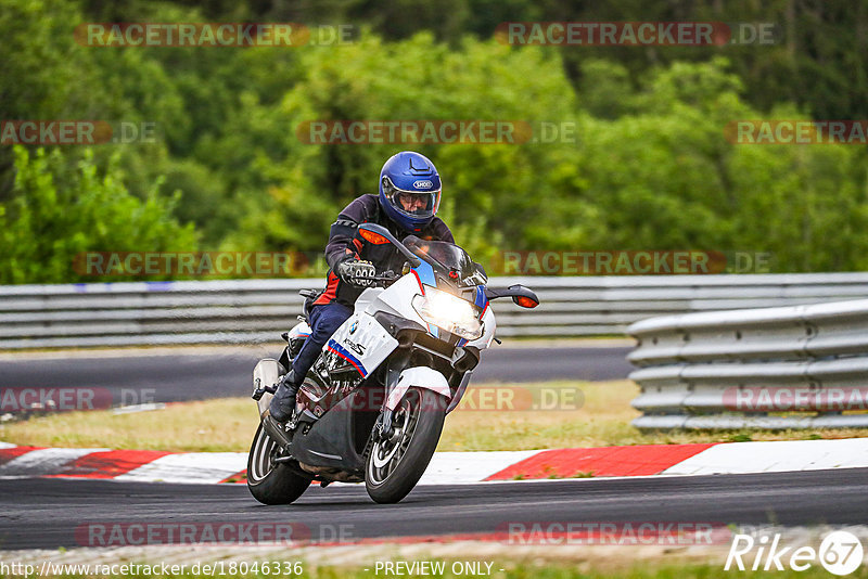
{"label": "red and white painted curb along the track edge", "polygon": [[[60,449],[0,442],[0,477],[215,484],[241,480],[246,463],[245,452]],[[856,467],[868,467],[868,438],[437,452],[419,484]]]}

